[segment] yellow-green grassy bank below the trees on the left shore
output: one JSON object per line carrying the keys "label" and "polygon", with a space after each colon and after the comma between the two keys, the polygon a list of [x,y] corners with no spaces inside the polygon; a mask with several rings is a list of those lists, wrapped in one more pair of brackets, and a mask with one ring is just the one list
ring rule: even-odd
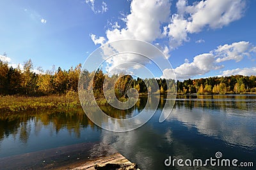
{"label": "yellow-green grassy bank below the trees on the left shore", "polygon": [[24,110],[42,110],[42,109],[64,109],[76,108],[81,106],[77,95],[70,96],[42,96],[42,97],[24,97],[24,96],[1,96],[0,111],[18,112]]}

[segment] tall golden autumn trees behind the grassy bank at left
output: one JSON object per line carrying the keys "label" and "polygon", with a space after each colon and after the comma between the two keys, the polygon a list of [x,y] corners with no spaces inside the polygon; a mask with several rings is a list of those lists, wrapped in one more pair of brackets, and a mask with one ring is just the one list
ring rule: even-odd
{"label": "tall golden autumn trees behind the grassy bank at left", "polygon": [[56,71],[35,73],[31,59],[24,62],[23,69],[0,60],[0,95],[45,96],[77,92],[80,71],[81,64],[78,64],[68,71],[59,67]]}

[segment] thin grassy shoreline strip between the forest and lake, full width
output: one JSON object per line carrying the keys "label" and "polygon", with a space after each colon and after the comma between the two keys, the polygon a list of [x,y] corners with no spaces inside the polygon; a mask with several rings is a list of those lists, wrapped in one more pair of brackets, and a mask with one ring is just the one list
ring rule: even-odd
{"label": "thin grassy shoreline strip between the forest and lake, full width", "polygon": [[[147,94],[139,94],[141,97]],[[172,94],[171,94],[172,95]],[[175,95],[175,94],[173,94]],[[156,94],[150,94],[156,96]],[[161,94],[160,96],[166,96]],[[241,94],[176,94],[182,96],[256,96],[255,92],[246,92]],[[90,106],[90,105],[88,105]],[[102,105],[105,106],[105,105]],[[4,113],[20,113],[21,111],[42,111],[42,110],[60,110],[68,111],[82,108],[78,95],[73,96],[0,96],[0,111]]]}

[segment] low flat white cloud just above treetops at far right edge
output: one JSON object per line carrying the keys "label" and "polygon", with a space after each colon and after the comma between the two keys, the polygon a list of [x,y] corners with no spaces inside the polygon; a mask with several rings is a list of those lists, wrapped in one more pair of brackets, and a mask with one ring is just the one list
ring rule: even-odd
{"label": "low flat white cloud just above treetops at far right edge", "polygon": [[243,75],[243,76],[255,76],[256,75],[256,67],[245,67],[245,68],[237,68],[225,70],[222,72],[221,76],[231,76],[231,75]]}

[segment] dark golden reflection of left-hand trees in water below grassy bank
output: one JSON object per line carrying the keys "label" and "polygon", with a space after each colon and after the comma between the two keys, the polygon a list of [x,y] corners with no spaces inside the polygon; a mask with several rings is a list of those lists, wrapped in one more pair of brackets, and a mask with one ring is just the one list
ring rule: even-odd
{"label": "dark golden reflection of left-hand trees in water below grassy bank", "polygon": [[[52,127],[51,127],[52,126]],[[42,127],[51,127],[58,133],[61,129],[67,129],[68,132],[74,132],[77,138],[80,137],[81,128],[94,128],[94,124],[84,116],[83,110],[75,111],[40,111],[1,114],[0,117],[0,141],[12,135],[13,138],[19,136],[20,142],[27,143],[31,129],[36,136],[42,130]]]}

